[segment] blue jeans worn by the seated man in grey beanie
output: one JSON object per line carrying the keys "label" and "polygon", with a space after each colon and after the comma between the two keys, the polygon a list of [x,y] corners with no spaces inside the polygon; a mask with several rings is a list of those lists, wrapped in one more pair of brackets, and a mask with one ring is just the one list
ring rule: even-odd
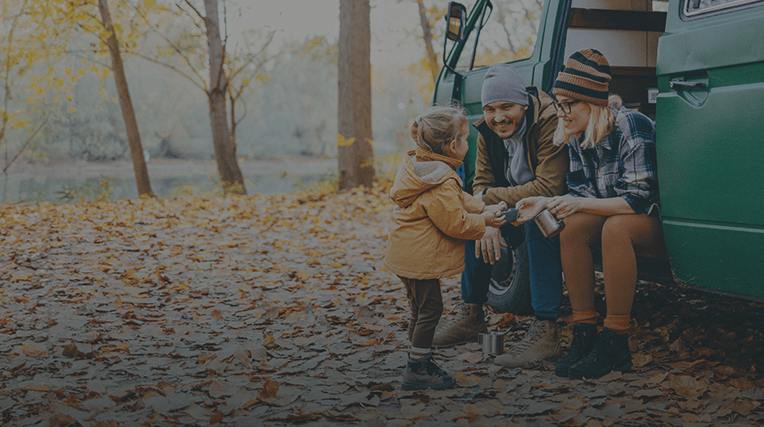
{"label": "blue jeans worn by the seated man in grey beanie", "polygon": [[[537,318],[557,319],[562,299],[562,264],[560,239],[547,239],[535,223],[523,224],[521,229],[505,225],[501,229],[509,241],[511,233],[522,233],[523,245],[528,245],[528,268],[530,273],[531,306]],[[515,239],[512,239],[515,240]],[[506,256],[506,255],[503,255]],[[462,274],[462,300],[467,304],[484,304],[488,299],[491,265],[475,257],[475,242],[466,242]]]}

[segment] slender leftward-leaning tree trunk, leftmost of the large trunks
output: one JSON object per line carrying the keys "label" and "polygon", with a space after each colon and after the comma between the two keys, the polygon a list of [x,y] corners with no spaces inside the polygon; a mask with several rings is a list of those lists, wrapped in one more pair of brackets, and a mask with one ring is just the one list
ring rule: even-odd
{"label": "slender leftward-leaning tree trunk, leftmost of the large trunks", "polygon": [[138,189],[138,195],[153,196],[154,193],[151,191],[151,182],[149,181],[149,171],[146,168],[146,161],[143,157],[143,145],[141,144],[141,134],[138,131],[138,120],[135,118],[135,109],[133,109],[130,89],[127,86],[127,76],[125,75],[124,63],[122,62],[122,54],[119,50],[119,40],[117,40],[117,33],[114,32],[114,25],[111,22],[108,0],[98,0],[98,10],[101,13],[101,23],[109,34],[106,44],[111,55],[111,70],[114,73],[114,84],[117,86],[119,107],[122,110],[122,119],[125,122],[125,130],[127,131],[127,144],[130,147],[130,157],[133,161],[135,185]]}

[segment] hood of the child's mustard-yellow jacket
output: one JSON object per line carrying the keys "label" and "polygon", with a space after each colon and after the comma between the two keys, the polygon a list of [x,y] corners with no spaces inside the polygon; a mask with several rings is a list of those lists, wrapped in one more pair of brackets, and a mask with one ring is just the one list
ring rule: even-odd
{"label": "hood of the child's mustard-yellow jacket", "polygon": [[390,198],[405,208],[411,206],[422,193],[449,179],[457,180],[461,186],[461,179],[454,171],[461,163],[421,149],[409,151],[390,189]]}

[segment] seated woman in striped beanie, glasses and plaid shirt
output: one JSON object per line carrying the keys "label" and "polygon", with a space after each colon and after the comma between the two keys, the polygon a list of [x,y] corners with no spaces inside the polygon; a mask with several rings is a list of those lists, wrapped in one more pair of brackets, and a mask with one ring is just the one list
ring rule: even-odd
{"label": "seated woman in striped beanie, glasses and plaid shirt", "polygon": [[[570,153],[568,194],[527,198],[519,221],[548,208],[564,219],[562,269],[573,308],[573,341],[555,372],[599,378],[631,368],[628,331],[637,282],[636,253],[661,256],[663,236],[656,213],[658,181],[655,126],[643,114],[608,106],[610,66],[601,52],[586,49],[568,58],[554,84],[560,118],[557,143]],[[601,244],[607,315],[597,333],[592,245]]]}

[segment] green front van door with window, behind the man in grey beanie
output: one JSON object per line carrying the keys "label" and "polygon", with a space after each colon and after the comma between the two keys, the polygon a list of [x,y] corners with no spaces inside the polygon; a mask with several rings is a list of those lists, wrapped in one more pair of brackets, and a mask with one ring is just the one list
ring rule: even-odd
{"label": "green front van door with window, behind the man in grey beanie", "polygon": [[[457,103],[470,121],[483,115],[480,90],[488,67],[513,63],[526,85],[548,90],[562,64],[570,0],[477,0],[470,9],[464,41],[453,46],[438,79],[434,105]],[[449,67],[451,69],[449,69]],[[456,71],[456,73],[453,70]],[[477,131],[470,126],[464,161],[465,188],[475,176]]]}

